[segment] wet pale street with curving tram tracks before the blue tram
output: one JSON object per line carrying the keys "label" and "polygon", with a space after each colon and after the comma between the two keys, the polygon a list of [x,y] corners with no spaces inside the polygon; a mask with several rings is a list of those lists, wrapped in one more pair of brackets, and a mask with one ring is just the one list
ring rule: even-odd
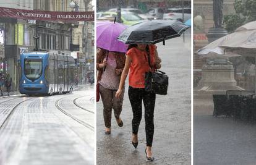
{"label": "wet pale street with curving tram tracks before the blue tram", "polygon": [[93,93],[0,98],[0,165],[94,164]]}

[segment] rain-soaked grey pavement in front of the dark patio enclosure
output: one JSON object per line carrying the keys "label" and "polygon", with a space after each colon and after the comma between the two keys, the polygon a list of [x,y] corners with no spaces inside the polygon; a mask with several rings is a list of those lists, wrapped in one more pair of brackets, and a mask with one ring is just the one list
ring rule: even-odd
{"label": "rain-soaked grey pavement in front of the dark patio enclosure", "polygon": [[212,114],[212,100],[194,100],[194,164],[256,164],[256,124]]}

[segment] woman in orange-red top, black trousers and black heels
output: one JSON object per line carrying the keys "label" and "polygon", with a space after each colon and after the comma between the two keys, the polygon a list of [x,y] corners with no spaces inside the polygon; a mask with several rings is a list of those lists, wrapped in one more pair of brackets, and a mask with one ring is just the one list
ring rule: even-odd
{"label": "woman in orange-red top, black trousers and black heels", "polygon": [[[161,59],[158,57],[156,46],[154,44],[130,44],[126,53],[126,66],[122,72],[119,88],[116,97],[119,98],[123,93],[123,86],[129,72],[129,99],[132,106],[132,145],[137,148],[138,130],[142,119],[142,100],[145,108],[145,129],[147,146],[145,153],[148,161],[153,161],[151,146],[154,134],[154,109],[156,94],[145,91],[145,73],[150,71],[148,64],[148,55],[150,56],[150,65],[153,70],[160,69]],[[151,71],[153,71],[151,70]]]}

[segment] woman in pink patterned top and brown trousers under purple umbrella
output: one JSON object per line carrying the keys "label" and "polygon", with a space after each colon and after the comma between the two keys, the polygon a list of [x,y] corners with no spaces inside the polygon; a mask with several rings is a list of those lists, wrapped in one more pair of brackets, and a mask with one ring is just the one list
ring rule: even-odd
{"label": "woman in pink patterned top and brown trousers under purple umbrella", "polygon": [[96,68],[98,70],[97,83],[99,84],[100,96],[103,103],[103,116],[106,127],[105,134],[110,134],[112,109],[114,109],[114,117],[119,127],[123,125],[120,114],[122,111],[124,89],[120,93],[119,98],[116,98],[115,95],[119,87],[126,56],[125,53],[98,48],[96,58]]}

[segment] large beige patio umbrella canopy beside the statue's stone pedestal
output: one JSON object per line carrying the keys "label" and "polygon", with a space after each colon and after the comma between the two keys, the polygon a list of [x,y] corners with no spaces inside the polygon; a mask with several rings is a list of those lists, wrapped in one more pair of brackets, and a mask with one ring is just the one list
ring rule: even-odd
{"label": "large beige patio umbrella canopy beside the statue's stone pedestal", "polygon": [[[207,46],[199,49],[198,54],[239,54],[253,56],[256,62],[256,21],[246,23],[237,28],[234,33],[223,36]],[[255,69],[255,94],[256,94],[256,69]]]}

